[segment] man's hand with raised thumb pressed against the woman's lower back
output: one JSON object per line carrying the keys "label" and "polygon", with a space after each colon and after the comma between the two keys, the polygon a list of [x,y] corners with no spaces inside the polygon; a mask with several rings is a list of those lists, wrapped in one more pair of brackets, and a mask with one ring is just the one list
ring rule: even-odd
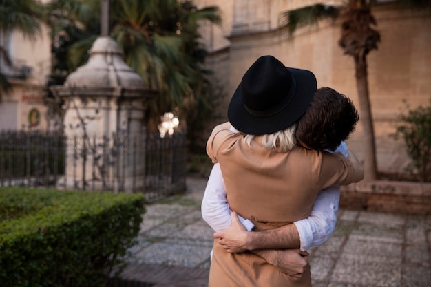
{"label": "man's hand with raised thumb pressed against the woman's lower back", "polygon": [[219,232],[214,233],[215,239],[220,238],[220,244],[227,252],[238,253],[246,251],[246,243],[249,232],[238,219],[236,212],[231,213],[231,225]]}

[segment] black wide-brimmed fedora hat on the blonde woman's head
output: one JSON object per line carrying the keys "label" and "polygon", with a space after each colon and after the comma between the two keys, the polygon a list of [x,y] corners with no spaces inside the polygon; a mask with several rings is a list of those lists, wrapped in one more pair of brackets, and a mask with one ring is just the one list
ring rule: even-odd
{"label": "black wide-brimmed fedora hat on the blonde woman's head", "polygon": [[235,90],[227,116],[246,134],[272,134],[301,118],[317,89],[308,70],[285,67],[273,56],[261,56]]}

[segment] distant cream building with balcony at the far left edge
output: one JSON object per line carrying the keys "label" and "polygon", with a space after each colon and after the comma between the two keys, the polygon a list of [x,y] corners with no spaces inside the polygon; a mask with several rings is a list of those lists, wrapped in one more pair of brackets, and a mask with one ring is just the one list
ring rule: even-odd
{"label": "distant cream building with balcony at the far left edge", "polygon": [[12,61],[8,65],[0,59],[0,71],[12,86],[1,97],[0,130],[48,128],[44,98],[51,70],[50,43],[49,30],[43,24],[34,39],[21,32],[0,30],[0,46]]}

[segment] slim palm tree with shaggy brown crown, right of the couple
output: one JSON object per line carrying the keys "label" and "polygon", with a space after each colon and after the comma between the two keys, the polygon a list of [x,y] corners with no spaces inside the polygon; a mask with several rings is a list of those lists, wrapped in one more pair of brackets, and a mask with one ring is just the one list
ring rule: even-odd
{"label": "slim palm tree with shaggy brown crown, right of the couple", "polygon": [[[339,46],[344,54],[353,57],[355,62],[355,78],[359,96],[359,111],[364,129],[364,180],[377,179],[377,163],[375,156],[375,133],[370,107],[370,92],[368,89],[367,55],[377,50],[381,41],[379,32],[375,29],[377,22],[371,8],[377,1],[349,0],[345,6],[328,6],[316,4],[297,10],[282,13],[280,29],[293,35],[297,28],[314,25],[320,19],[340,18],[341,36]],[[418,8],[430,6],[428,0],[398,0],[402,8]]]}

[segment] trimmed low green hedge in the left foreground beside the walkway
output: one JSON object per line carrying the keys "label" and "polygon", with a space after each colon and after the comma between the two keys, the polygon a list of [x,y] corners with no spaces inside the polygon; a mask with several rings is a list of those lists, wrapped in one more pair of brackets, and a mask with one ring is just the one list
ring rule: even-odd
{"label": "trimmed low green hedge in the left foreground beside the walkway", "polygon": [[140,194],[0,189],[0,286],[104,286],[133,246]]}

